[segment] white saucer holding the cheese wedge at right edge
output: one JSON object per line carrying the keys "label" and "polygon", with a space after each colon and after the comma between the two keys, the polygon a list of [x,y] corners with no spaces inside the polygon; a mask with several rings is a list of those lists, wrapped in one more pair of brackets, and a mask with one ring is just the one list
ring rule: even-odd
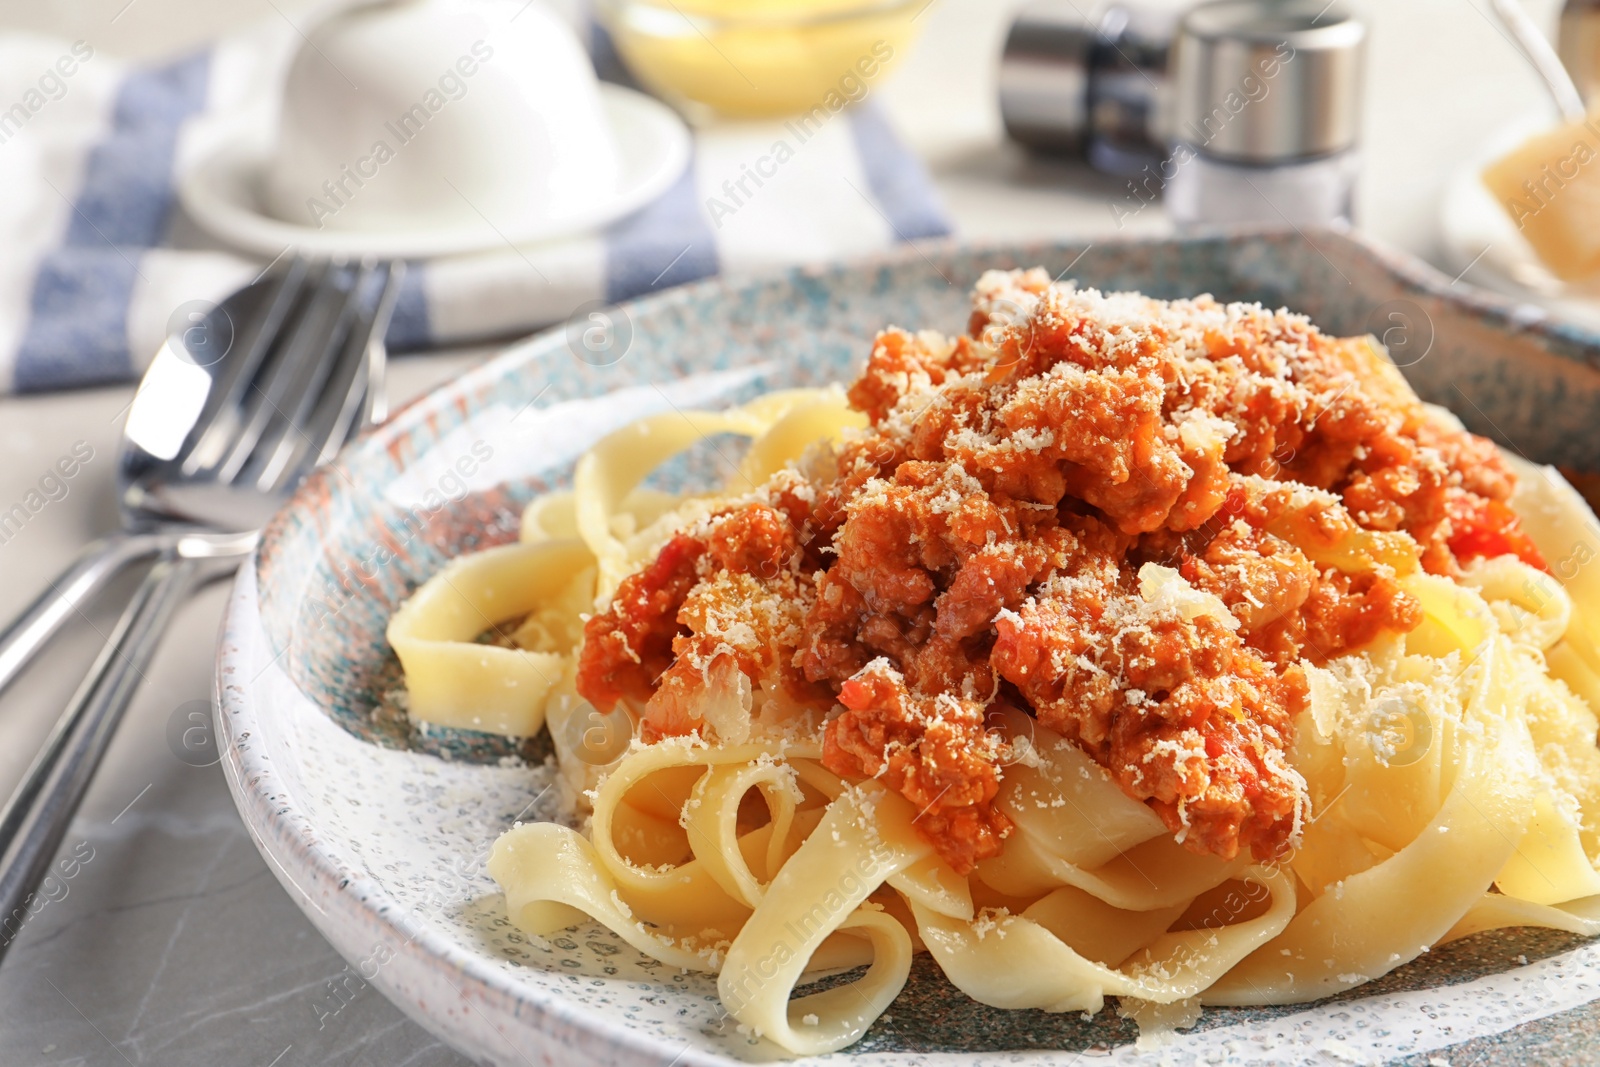
{"label": "white saucer holding the cheese wedge at right edge", "polygon": [[1466,282],[1595,326],[1600,325],[1600,288],[1594,282],[1573,285],[1550,274],[1482,178],[1485,166],[1552,123],[1552,118],[1536,117],[1518,120],[1485,141],[1451,173],[1440,203],[1440,238],[1451,272],[1462,272]]}

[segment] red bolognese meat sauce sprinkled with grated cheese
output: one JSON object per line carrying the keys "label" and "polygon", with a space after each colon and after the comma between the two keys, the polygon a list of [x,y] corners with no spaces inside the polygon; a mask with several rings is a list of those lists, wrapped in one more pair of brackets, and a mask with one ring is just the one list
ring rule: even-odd
{"label": "red bolognese meat sauce sprinkled with grated cheese", "polygon": [[1283,310],[992,272],[970,336],[885,331],[850,402],[866,432],[621,582],[578,688],[640,702],[646,739],[714,733],[696,697],[731,667],[832,707],[824,765],[904,793],[963,873],[1010,832],[997,702],[1190,849],[1272,857],[1302,662],[1416,627],[1410,569],[1542,566],[1493,445]]}

